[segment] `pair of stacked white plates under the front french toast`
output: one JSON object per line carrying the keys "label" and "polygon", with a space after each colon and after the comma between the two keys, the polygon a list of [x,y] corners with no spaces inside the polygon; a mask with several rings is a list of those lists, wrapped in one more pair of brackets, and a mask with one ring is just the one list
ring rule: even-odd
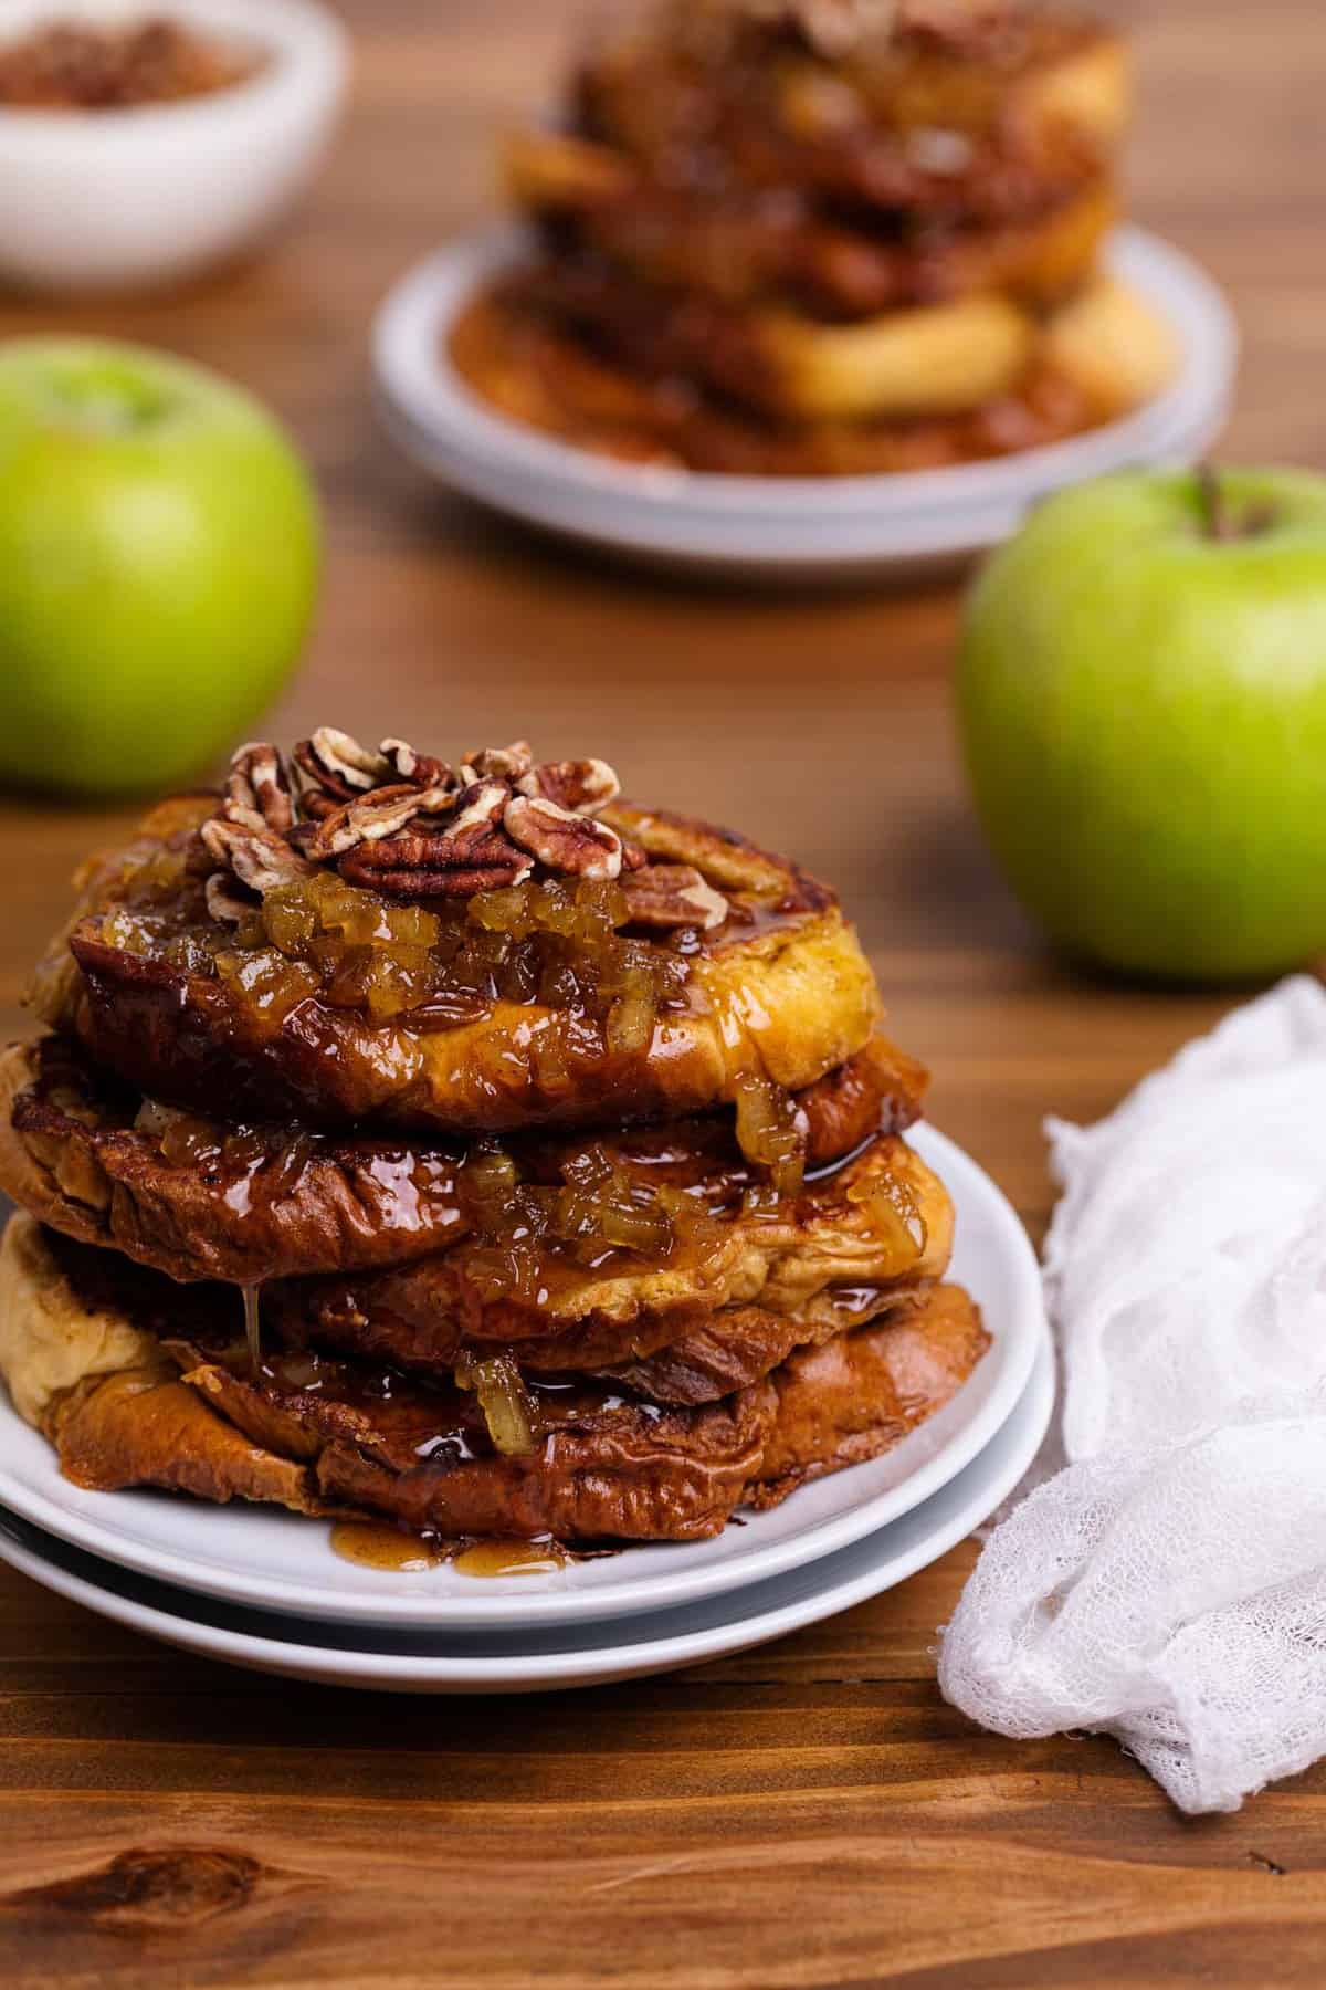
{"label": "pair of stacked white plates under the front french toast", "polygon": [[101,1616],[262,1672],[394,1692],[535,1692],[765,1644],[903,1582],[972,1532],[1036,1457],[1054,1401],[1040,1272],[1016,1214],[950,1140],[920,1154],[956,1206],[952,1278],[992,1345],[883,1459],[744,1514],[716,1540],[475,1580],[338,1558],[330,1528],[258,1506],[85,1492],[0,1391],[0,1558]]}

